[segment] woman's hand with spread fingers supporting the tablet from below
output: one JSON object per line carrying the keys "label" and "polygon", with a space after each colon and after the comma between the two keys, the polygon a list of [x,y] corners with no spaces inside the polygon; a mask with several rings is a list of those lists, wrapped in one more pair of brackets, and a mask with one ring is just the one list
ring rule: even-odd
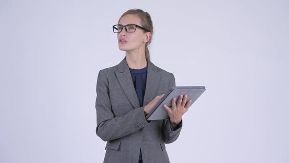
{"label": "woman's hand with spread fingers supporting the tablet from below", "polygon": [[189,109],[192,100],[187,101],[187,97],[188,95],[180,95],[177,104],[176,98],[173,98],[171,108],[166,104],[164,105],[164,108],[168,111],[169,121],[173,129],[181,122],[182,116]]}

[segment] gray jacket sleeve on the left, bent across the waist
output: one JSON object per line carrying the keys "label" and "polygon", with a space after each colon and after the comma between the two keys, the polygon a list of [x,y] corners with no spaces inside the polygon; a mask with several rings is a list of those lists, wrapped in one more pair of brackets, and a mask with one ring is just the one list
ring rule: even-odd
{"label": "gray jacket sleeve on the left, bent across the waist", "polygon": [[99,71],[96,82],[96,123],[96,135],[103,141],[127,136],[148,125],[143,107],[114,117],[108,80],[102,70]]}

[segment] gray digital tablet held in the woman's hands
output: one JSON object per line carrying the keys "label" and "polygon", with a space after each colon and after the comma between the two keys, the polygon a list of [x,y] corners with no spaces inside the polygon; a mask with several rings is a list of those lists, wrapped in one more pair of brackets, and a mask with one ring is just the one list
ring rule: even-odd
{"label": "gray digital tablet held in the woman's hands", "polygon": [[205,86],[173,86],[145,118],[147,120],[169,119],[168,111],[163,106],[166,104],[168,107],[171,107],[172,98],[175,97],[177,103],[180,95],[187,94],[187,101],[192,100],[191,107],[205,90]]}

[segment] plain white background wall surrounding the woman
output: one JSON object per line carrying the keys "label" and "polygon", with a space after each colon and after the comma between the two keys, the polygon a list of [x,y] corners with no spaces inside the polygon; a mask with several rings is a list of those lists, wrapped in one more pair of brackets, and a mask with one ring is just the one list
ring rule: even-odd
{"label": "plain white background wall surrounding the woman", "polygon": [[0,0],[1,163],[103,161],[96,79],[131,8],[152,17],[151,61],[207,88],[171,163],[289,163],[287,0]]}

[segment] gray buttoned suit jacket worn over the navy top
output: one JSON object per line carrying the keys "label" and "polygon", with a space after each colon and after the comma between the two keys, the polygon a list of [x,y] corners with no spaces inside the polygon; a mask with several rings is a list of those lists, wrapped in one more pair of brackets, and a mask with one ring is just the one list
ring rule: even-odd
{"label": "gray buttoned suit jacket worn over the navy top", "polygon": [[[147,61],[144,105],[175,86],[169,73]],[[125,57],[116,66],[98,72],[96,83],[96,135],[107,141],[104,163],[169,163],[165,143],[175,141],[169,120],[146,121]],[[180,124],[182,126],[182,122]]]}

